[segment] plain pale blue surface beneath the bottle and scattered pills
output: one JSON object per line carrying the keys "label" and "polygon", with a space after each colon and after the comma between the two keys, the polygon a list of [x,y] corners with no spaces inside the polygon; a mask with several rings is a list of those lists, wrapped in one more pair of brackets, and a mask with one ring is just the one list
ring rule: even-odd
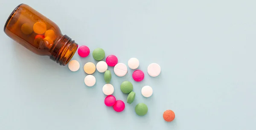
{"label": "plain pale blue surface beneath the bottle and scattered pills", "polygon": [[[128,80],[136,99],[122,113],[104,105],[102,73],[84,85],[83,65],[71,72],[26,50],[0,31],[0,130],[256,130],[255,0],[23,0],[91,52],[103,48],[119,62],[140,60],[143,82],[112,72],[114,96]],[[3,27],[20,0],[1,0]],[[159,77],[146,73],[158,63]],[[153,88],[146,99],[140,90]],[[143,102],[148,114],[137,116]],[[163,112],[176,113],[173,122]]]}

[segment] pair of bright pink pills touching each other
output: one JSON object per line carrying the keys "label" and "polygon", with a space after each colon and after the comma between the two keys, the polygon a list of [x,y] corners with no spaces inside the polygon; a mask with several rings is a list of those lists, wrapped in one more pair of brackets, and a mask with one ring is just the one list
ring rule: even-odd
{"label": "pair of bright pink pills touching each other", "polygon": [[121,112],[121,111],[123,111],[125,109],[125,103],[122,102],[122,100],[117,100],[116,101],[116,98],[113,95],[108,95],[105,98],[104,103],[108,107],[112,107],[113,106],[113,109],[116,112]]}

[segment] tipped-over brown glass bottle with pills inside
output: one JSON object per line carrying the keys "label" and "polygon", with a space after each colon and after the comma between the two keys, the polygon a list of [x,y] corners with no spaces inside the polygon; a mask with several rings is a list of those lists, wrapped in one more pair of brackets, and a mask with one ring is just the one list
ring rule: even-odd
{"label": "tipped-over brown glass bottle with pills inside", "polygon": [[12,11],[4,32],[35,54],[47,55],[60,65],[67,65],[78,48],[55,23],[26,4]]}

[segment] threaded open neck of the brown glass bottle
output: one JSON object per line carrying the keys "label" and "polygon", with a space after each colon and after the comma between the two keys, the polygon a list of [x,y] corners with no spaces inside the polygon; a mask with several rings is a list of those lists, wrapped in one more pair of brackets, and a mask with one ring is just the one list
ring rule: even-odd
{"label": "threaded open neck of the brown glass bottle", "polygon": [[50,59],[60,65],[67,65],[73,55],[76,53],[78,44],[67,35],[55,40],[55,46],[51,50]]}

